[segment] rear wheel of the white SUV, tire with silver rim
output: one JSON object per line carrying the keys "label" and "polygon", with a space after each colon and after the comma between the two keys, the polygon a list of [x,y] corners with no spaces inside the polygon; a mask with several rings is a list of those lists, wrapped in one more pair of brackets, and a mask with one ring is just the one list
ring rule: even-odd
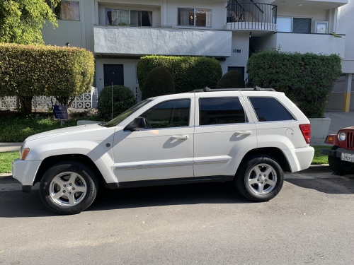
{"label": "rear wheel of the white SUV, tire with silver rim", "polygon": [[[256,175],[257,168],[262,173],[269,169],[267,177]],[[262,171],[263,170],[263,171]],[[268,181],[268,182],[267,182]],[[256,182],[251,184],[251,182]],[[246,160],[236,173],[236,187],[247,199],[251,201],[269,201],[278,195],[284,182],[284,172],[279,163],[269,155],[256,155]],[[275,183],[274,185],[268,183]],[[263,192],[261,191],[264,189]],[[257,189],[257,191],[256,191]],[[268,191],[267,191],[268,190]]]}

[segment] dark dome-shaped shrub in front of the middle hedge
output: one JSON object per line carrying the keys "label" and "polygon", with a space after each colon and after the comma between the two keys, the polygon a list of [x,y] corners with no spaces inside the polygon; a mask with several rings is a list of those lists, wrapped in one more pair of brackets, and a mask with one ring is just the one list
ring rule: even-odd
{"label": "dark dome-shaped shrub in front of the middle hedge", "polygon": [[155,67],[145,78],[142,99],[175,93],[173,76],[164,66]]}

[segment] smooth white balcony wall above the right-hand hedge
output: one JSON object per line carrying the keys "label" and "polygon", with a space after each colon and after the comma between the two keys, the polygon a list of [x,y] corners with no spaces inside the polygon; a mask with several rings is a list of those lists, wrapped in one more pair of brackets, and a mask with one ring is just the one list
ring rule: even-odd
{"label": "smooth white balcony wall above the right-hand hedge", "polygon": [[263,50],[270,48],[278,48],[282,52],[312,52],[314,54],[338,54],[344,57],[344,47],[346,35],[334,37],[331,34],[316,33],[275,33],[271,36],[262,37],[258,43],[262,47],[254,47],[253,49]]}

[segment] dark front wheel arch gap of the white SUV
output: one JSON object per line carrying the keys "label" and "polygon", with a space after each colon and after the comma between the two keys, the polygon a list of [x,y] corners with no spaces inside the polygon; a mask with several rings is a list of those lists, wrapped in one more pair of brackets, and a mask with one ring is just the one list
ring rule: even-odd
{"label": "dark front wheel arch gap of the white SUV", "polygon": [[93,173],[96,175],[98,182],[103,182],[103,184],[106,183],[103,175],[101,174],[101,171],[98,170],[96,164],[93,163],[93,160],[91,160],[91,158],[89,158],[87,155],[67,154],[67,155],[52,155],[42,160],[42,163],[40,163],[40,167],[38,167],[38,170],[35,174],[33,185],[37,182],[40,182],[44,173],[50,167],[52,167],[52,165],[55,165],[62,161],[75,161],[75,162],[83,163],[84,165],[86,165],[86,167],[89,167],[93,171]]}

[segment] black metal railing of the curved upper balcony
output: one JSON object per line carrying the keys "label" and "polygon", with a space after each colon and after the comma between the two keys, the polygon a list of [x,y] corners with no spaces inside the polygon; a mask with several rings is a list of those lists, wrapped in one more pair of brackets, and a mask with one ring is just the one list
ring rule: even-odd
{"label": "black metal railing of the curved upper balcony", "polygon": [[235,30],[276,30],[277,6],[229,0],[227,23],[231,23],[231,29]]}

